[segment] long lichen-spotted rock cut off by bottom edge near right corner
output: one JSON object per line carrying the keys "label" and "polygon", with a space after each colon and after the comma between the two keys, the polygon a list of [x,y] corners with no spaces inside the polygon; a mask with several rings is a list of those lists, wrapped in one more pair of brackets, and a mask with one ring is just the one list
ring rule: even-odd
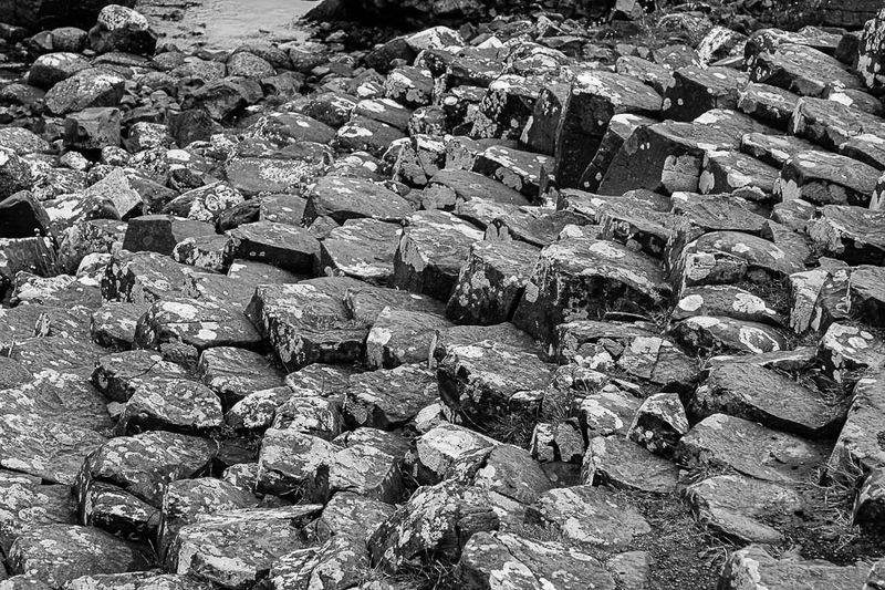
{"label": "long lichen-spotted rock cut off by bottom edge near right corner", "polygon": [[737,590],[750,577],[758,580],[753,583],[769,588],[810,582],[848,590],[864,582],[866,570],[863,566],[840,567],[823,560],[775,559],[764,548],[751,545],[731,553],[719,577],[719,587]]}

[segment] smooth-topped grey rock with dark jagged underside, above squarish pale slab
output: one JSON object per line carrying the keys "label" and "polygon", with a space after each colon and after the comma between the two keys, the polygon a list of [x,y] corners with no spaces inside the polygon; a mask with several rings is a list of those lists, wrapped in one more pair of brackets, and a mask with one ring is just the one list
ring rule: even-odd
{"label": "smooth-topped grey rock with dark jagged underside, above squarish pale slab", "polygon": [[363,178],[324,176],[308,193],[304,222],[331,217],[339,224],[368,217],[381,221],[400,221],[413,213],[412,205],[384,186]]}

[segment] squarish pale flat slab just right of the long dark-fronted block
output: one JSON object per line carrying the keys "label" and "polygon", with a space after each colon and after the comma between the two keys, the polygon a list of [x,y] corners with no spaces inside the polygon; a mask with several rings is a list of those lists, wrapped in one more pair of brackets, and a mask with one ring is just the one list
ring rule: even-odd
{"label": "squarish pale flat slab just right of the long dark-fronted block", "polygon": [[400,226],[377,219],[350,219],[320,245],[320,269],[377,284],[394,276]]}

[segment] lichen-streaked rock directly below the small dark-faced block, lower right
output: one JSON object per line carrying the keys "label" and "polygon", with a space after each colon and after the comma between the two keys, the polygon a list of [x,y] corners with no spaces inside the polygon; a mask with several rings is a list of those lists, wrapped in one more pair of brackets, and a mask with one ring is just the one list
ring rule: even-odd
{"label": "lichen-streaked rock directly below the small dark-faced block, lower right", "polygon": [[678,467],[622,436],[591,438],[581,477],[587,485],[607,485],[669,494],[676,489]]}

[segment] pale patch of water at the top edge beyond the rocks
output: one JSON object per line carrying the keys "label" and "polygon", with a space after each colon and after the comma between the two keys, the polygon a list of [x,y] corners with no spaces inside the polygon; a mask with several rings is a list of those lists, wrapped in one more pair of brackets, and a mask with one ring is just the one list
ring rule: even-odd
{"label": "pale patch of water at the top edge beyond the rocks", "polygon": [[296,21],[313,0],[138,0],[136,9],[181,49],[233,49],[247,41],[303,39]]}

